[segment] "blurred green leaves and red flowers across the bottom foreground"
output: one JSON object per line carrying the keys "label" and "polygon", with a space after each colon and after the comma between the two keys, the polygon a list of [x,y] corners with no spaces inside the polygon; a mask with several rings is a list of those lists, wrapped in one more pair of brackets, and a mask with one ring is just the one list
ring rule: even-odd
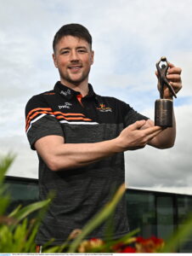
{"label": "blurred green leaves and red flowers across the bottom foreground", "polygon": [[[0,159],[0,253],[35,253],[35,237],[42,218],[54,195],[49,195],[48,200],[35,202],[29,206],[18,206],[13,212],[6,214],[11,203],[8,189],[4,184],[6,172],[14,161],[15,156],[8,154]],[[116,205],[125,192],[125,184],[117,189],[113,196],[99,213],[97,213],[82,230],[74,230],[68,239],[61,246],[50,247],[49,241],[43,246],[43,253],[174,253],[178,251],[184,241],[191,235],[192,215],[189,215],[183,224],[180,225],[170,239],[164,242],[154,236],[149,239],[137,237],[139,230],[133,230],[126,236],[116,241],[108,239],[103,241],[98,238],[86,240],[88,234],[100,224],[108,224],[108,236],[112,237],[112,218]],[[29,218],[32,212],[36,218]]]}

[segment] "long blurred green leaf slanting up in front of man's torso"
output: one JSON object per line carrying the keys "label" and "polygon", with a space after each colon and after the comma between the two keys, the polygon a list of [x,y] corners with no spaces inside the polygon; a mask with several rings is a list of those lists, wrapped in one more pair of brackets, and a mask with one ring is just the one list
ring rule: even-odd
{"label": "long blurred green leaf slanting up in front of man's torso", "polygon": [[124,192],[125,184],[123,183],[116,191],[116,195],[114,195],[113,199],[98,214],[96,214],[95,217],[88,222],[88,224],[84,226],[82,233],[76,237],[75,241],[71,242],[68,253],[75,253],[76,247],[78,247],[82,239],[85,236],[88,236],[91,231],[97,228],[99,224],[102,224],[104,220],[110,216],[111,212],[115,210],[117,203],[121,200]]}

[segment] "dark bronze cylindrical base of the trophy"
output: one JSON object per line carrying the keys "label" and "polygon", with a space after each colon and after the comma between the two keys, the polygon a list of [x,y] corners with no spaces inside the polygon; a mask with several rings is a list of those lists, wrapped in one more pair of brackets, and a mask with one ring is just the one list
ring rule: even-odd
{"label": "dark bronze cylindrical base of the trophy", "polygon": [[155,125],[162,127],[172,127],[173,102],[168,99],[155,101]]}

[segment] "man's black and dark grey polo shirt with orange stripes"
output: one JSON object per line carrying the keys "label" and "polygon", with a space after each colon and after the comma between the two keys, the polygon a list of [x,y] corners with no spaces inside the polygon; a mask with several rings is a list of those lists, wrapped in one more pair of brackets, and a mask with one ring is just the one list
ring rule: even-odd
{"label": "man's black and dark grey polo shirt with orange stripes", "polygon": [[[41,137],[58,135],[65,143],[99,143],[118,137],[137,120],[147,119],[115,97],[97,95],[88,84],[88,95],[57,82],[54,90],[31,97],[25,108],[26,135],[32,149]],[[39,158],[40,200],[54,190],[55,197],[37,234],[37,244],[54,238],[61,244],[72,230],[82,227],[110,201],[125,181],[124,154],[106,157],[88,166],[53,172]],[[113,219],[113,238],[128,232],[125,196],[118,203]],[[87,238],[103,238],[105,224]]]}

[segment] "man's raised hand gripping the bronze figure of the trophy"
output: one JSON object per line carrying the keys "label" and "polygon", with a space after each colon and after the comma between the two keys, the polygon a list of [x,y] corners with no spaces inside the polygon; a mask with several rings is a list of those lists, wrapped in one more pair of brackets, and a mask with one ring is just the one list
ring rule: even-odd
{"label": "man's raised hand gripping the bronze figure of the trophy", "polygon": [[[178,93],[179,90],[182,88],[182,80],[181,80],[181,68],[180,67],[175,67],[172,63],[168,62],[169,69],[167,72],[167,79],[169,83],[172,85],[173,90]],[[158,74],[155,72],[157,78]],[[160,89],[160,84],[158,84],[158,90]],[[172,93],[170,90],[165,86],[164,89],[164,97],[166,99],[172,99]]]}

